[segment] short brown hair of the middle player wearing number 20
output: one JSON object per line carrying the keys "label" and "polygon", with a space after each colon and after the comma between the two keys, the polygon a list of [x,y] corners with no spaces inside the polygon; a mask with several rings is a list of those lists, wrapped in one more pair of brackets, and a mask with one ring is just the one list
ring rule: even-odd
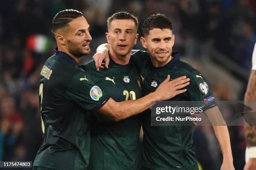
{"label": "short brown hair of the middle player wearing number 20", "polygon": [[111,15],[107,19],[108,30],[110,29],[110,23],[113,20],[133,20],[135,25],[136,25],[136,31],[138,30],[138,18],[136,16],[134,16],[133,14],[131,14],[131,13],[128,13],[128,12],[118,12],[118,13],[114,13],[113,15]]}

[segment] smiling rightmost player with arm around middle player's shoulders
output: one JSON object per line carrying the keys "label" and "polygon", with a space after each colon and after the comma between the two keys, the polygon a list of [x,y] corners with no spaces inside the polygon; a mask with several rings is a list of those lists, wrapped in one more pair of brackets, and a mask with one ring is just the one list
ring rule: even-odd
{"label": "smiling rightmost player with arm around middle player's shoulders", "polygon": [[[213,125],[215,135],[223,153],[221,170],[234,170],[228,128],[215,103],[205,78],[191,65],[180,61],[179,53],[172,52],[174,35],[171,21],[163,14],[151,15],[143,23],[141,43],[148,52],[138,50],[133,54],[142,78],[143,95],[154,92],[166,75],[177,78],[186,75],[190,78],[187,91],[171,101],[200,101],[207,118]],[[108,46],[106,46],[109,48]],[[102,45],[101,50],[104,50]],[[108,49],[105,49],[108,50]],[[98,56],[100,57],[100,56]],[[101,64],[107,56],[95,58]],[[150,111],[149,111],[150,112]],[[143,115],[143,170],[198,170],[192,140],[193,127],[190,126],[151,126],[151,115]]]}

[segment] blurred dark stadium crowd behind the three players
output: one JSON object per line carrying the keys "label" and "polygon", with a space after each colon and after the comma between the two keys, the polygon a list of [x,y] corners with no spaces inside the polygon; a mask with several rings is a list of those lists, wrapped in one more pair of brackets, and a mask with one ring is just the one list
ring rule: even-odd
{"label": "blurred dark stadium crowd behind the three players", "polygon": [[[243,100],[256,41],[255,0],[0,0],[0,160],[33,161],[42,143],[38,77],[54,53],[50,23],[60,10],[82,11],[91,27],[92,58],[105,43],[106,19],[118,11],[143,20],[164,13],[174,25],[173,50],[206,77],[217,100]],[[143,49],[138,42],[135,49]],[[236,170],[246,143],[242,126],[228,127]],[[212,127],[195,127],[198,161],[207,170],[222,162]]]}

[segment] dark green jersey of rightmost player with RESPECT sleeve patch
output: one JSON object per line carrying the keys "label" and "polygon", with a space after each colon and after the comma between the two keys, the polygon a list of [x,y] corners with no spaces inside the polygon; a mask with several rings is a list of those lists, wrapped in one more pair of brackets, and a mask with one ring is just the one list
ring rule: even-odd
{"label": "dark green jersey of rightmost player with RESPECT sleeve patch", "polygon": [[[172,79],[186,75],[190,78],[187,91],[171,101],[202,101],[202,106],[206,109],[216,105],[204,77],[191,65],[180,61],[178,53],[172,53],[174,58],[164,67],[154,67],[148,52],[137,51],[133,55],[136,64],[141,68],[144,95],[154,92],[167,75],[171,75]],[[147,114],[143,116],[143,132],[143,166],[152,170],[198,169],[192,126],[151,126],[151,116]]]}

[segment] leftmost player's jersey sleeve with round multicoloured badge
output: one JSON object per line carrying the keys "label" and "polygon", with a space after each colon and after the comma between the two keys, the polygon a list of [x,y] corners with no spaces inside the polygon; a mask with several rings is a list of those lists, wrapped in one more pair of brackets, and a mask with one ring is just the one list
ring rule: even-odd
{"label": "leftmost player's jersey sleeve with round multicoloured badge", "polygon": [[110,98],[83,71],[75,75],[69,82],[65,90],[65,97],[85,110],[93,111],[100,109]]}

